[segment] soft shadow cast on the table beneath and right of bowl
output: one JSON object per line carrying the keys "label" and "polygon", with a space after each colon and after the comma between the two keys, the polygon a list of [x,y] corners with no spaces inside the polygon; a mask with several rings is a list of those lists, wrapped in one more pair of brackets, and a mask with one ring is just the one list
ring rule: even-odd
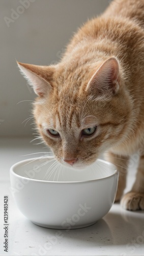
{"label": "soft shadow cast on the table beneath and right of bowl", "polygon": [[[33,224],[35,225],[35,224]],[[36,226],[36,229],[42,227]],[[55,236],[56,229],[43,228],[44,233]],[[77,244],[85,241],[85,246],[126,245],[127,247],[144,243],[144,211],[126,211],[120,209],[120,214],[109,212],[103,219],[92,226],[61,230],[65,242]],[[71,242],[70,242],[71,241]]]}

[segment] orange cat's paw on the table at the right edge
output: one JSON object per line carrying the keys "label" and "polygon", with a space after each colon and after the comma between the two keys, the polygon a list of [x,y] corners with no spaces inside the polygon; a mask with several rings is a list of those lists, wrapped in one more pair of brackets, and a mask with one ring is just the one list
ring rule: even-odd
{"label": "orange cat's paw on the table at the right edge", "polygon": [[126,210],[144,210],[144,194],[131,191],[123,196],[121,205]]}

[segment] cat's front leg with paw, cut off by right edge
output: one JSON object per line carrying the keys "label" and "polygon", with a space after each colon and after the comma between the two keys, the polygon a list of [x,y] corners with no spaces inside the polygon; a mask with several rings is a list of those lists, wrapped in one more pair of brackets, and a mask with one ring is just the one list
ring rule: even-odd
{"label": "cat's front leg with paw, cut off by right edge", "polygon": [[121,205],[127,210],[144,210],[144,155],[139,158],[133,187],[129,193],[124,195]]}

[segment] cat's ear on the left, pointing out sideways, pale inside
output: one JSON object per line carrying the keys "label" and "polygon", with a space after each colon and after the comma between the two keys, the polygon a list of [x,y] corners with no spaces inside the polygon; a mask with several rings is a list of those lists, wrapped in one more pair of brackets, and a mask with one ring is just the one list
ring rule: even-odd
{"label": "cat's ear on the left, pointing out sideways, pale inside", "polygon": [[17,62],[17,64],[22,75],[27,79],[38,96],[43,97],[47,92],[52,90],[49,81],[54,72],[53,67],[36,66],[20,62]]}

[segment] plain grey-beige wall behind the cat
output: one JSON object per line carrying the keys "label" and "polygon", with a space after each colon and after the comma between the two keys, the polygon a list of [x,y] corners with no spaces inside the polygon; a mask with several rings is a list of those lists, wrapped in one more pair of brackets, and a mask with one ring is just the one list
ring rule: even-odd
{"label": "plain grey-beige wall behind the cat", "polygon": [[[33,1],[33,3],[32,3]],[[21,3],[30,5],[21,8]],[[31,3],[30,3],[31,2]],[[16,60],[49,65],[60,60],[73,32],[110,0],[1,0],[0,1],[0,136],[32,135],[31,102],[35,98]],[[14,14],[13,11],[22,12]],[[13,16],[14,15],[14,16]],[[8,18],[11,19],[8,19]],[[23,101],[32,100],[32,101]],[[21,103],[18,103],[23,101]]]}

